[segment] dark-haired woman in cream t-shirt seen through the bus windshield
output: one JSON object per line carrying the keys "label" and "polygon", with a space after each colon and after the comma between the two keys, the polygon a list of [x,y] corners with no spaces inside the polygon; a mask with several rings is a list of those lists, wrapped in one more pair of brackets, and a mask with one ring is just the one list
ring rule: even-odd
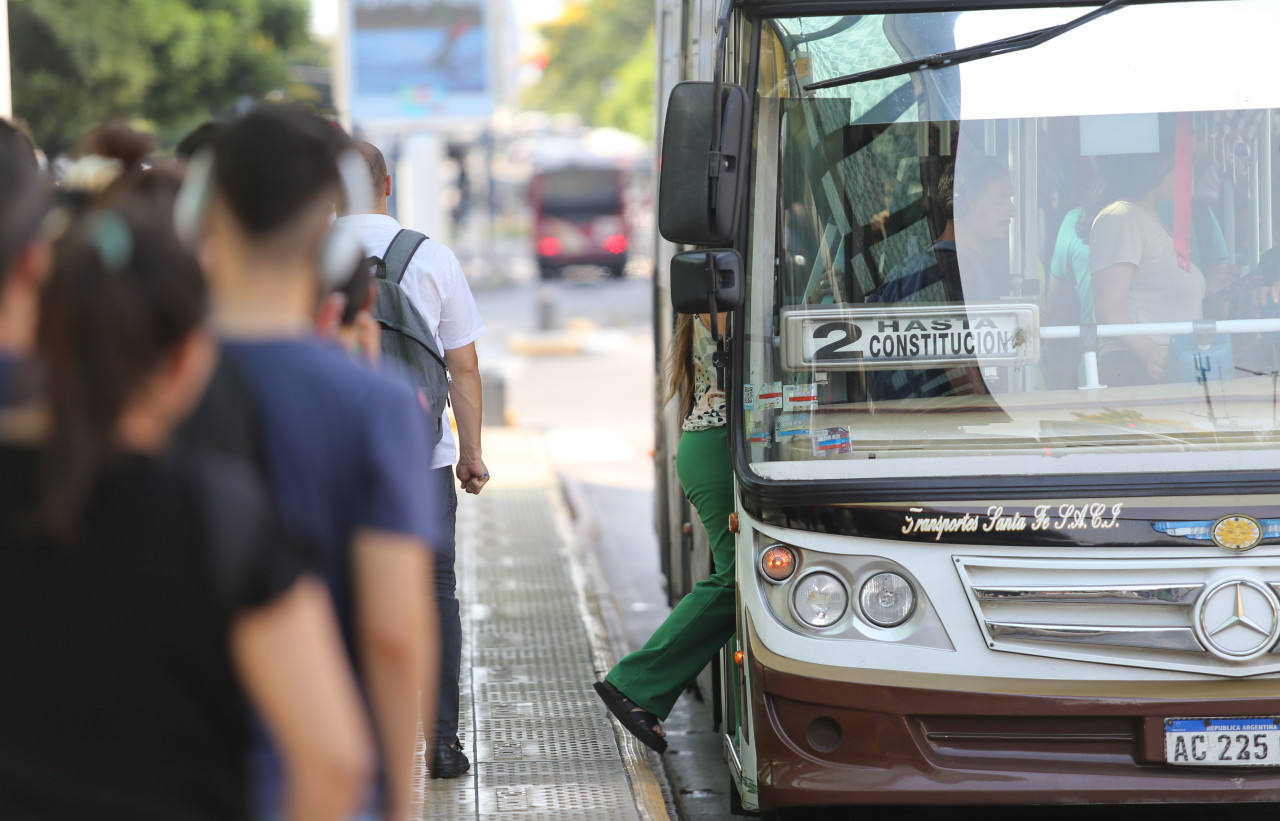
{"label": "dark-haired woman in cream t-shirt seen through the bus windshield", "polygon": [[[1100,182],[1079,223],[1088,229],[1100,324],[1204,316],[1204,275],[1189,260],[1179,265],[1174,238],[1156,213],[1156,202],[1172,196],[1171,155],[1100,158]],[[1098,374],[1110,386],[1160,382],[1167,364],[1167,334],[1105,339],[1098,351]]]}

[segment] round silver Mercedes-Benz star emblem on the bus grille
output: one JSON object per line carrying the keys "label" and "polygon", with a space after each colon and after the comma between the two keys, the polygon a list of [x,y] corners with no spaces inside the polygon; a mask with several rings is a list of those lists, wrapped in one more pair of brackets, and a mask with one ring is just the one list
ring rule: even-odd
{"label": "round silver Mercedes-Benz star emblem on the bus grille", "polygon": [[1220,581],[1196,601],[1194,629],[1219,658],[1249,661],[1271,649],[1280,637],[1280,602],[1257,581]]}

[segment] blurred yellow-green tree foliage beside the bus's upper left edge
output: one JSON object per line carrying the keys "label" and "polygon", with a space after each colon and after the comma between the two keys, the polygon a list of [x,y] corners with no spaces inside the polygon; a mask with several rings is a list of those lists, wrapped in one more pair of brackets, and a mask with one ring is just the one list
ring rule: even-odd
{"label": "blurred yellow-green tree foliage beside the bus's upper left edge", "polygon": [[525,106],[653,136],[653,0],[576,0],[543,27],[547,68]]}

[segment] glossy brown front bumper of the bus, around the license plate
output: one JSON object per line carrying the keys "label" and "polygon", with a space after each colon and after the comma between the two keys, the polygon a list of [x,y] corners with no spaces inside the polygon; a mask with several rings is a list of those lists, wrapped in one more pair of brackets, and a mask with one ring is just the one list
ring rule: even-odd
{"label": "glossy brown front bumper of the bus, around the license plate", "polygon": [[778,657],[760,652],[750,621],[748,634],[756,651],[749,653],[750,710],[765,809],[1280,801],[1280,767],[1165,763],[1166,719],[1280,716],[1280,697],[1080,698],[861,684],[768,666]]}

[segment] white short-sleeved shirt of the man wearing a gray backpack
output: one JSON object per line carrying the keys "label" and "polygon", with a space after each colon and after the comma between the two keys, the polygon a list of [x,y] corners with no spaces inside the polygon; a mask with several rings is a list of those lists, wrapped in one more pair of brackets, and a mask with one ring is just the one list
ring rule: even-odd
{"label": "white short-sleeved shirt of the man wearing a gray backpack", "polygon": [[[383,256],[392,240],[401,231],[401,224],[385,214],[353,214],[343,216],[342,224],[356,232],[367,256]],[[476,310],[471,287],[462,273],[458,257],[444,245],[434,240],[419,246],[408,270],[401,280],[401,287],[408,295],[408,301],[426,320],[435,345],[442,352],[460,348],[479,339],[484,332],[484,321]],[[444,425],[444,435],[431,456],[431,467],[448,467],[458,457],[453,432]]]}

